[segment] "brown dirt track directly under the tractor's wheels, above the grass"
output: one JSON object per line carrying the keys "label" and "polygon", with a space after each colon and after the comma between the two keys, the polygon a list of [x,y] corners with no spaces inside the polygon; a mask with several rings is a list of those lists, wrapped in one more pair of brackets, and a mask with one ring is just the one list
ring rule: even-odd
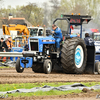
{"label": "brown dirt track directly under the tractor's wheels, above the grass", "polygon": [[100,75],[65,74],[52,72],[51,74],[34,73],[31,68],[23,73],[13,69],[0,70],[0,84],[3,83],[33,83],[33,82],[100,82]]}

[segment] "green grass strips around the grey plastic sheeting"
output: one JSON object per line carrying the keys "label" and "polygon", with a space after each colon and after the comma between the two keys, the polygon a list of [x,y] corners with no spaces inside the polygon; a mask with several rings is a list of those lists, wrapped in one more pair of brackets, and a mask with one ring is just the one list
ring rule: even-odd
{"label": "green grass strips around the grey plastic sheeting", "polygon": [[[43,87],[44,85],[48,86],[54,86],[58,87],[61,85],[71,85],[76,82],[66,82],[66,83],[20,83],[20,84],[0,84],[0,92],[1,91],[10,91],[10,90],[16,90],[16,89],[31,89],[33,87]],[[100,82],[81,82],[83,85],[86,85],[88,87],[94,86],[99,84]],[[100,91],[100,90],[97,90]],[[57,91],[57,90],[51,90],[48,92],[43,92],[43,91],[37,91],[33,93],[13,93],[13,94],[7,94],[9,97],[14,96],[14,97],[20,97],[20,96],[44,96],[44,95],[65,95],[65,94],[71,94],[71,93],[81,93],[81,90],[70,90],[70,91]]]}

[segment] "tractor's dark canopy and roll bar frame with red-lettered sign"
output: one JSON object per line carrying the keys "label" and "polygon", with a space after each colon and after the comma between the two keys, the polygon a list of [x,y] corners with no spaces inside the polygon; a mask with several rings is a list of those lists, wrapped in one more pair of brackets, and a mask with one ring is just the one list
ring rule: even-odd
{"label": "tractor's dark canopy and roll bar frame with red-lettered sign", "polygon": [[[76,35],[82,38],[82,24],[88,24],[91,20],[91,16],[81,15],[61,15],[61,18],[57,18],[53,21],[53,24],[58,20],[66,20],[68,25],[64,35],[70,35],[70,37],[76,37]],[[74,27],[78,27],[74,30]],[[76,32],[75,32],[76,31]]]}

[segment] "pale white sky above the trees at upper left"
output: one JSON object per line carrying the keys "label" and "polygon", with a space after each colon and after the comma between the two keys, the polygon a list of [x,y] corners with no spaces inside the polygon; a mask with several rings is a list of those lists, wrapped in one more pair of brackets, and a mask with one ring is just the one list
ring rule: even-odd
{"label": "pale white sky above the trees at upper left", "polygon": [[28,3],[37,3],[39,6],[43,4],[43,2],[49,2],[49,0],[3,0],[2,7],[7,8],[8,5],[15,8],[17,5],[23,6],[27,5]]}

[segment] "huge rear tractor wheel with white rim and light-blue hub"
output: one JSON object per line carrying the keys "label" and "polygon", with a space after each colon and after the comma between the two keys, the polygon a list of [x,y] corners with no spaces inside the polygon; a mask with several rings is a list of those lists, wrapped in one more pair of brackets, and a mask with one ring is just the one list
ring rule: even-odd
{"label": "huge rear tractor wheel with white rim and light-blue hub", "polygon": [[84,40],[80,38],[68,39],[61,51],[61,63],[65,73],[81,74],[84,72],[87,61],[87,49]]}

